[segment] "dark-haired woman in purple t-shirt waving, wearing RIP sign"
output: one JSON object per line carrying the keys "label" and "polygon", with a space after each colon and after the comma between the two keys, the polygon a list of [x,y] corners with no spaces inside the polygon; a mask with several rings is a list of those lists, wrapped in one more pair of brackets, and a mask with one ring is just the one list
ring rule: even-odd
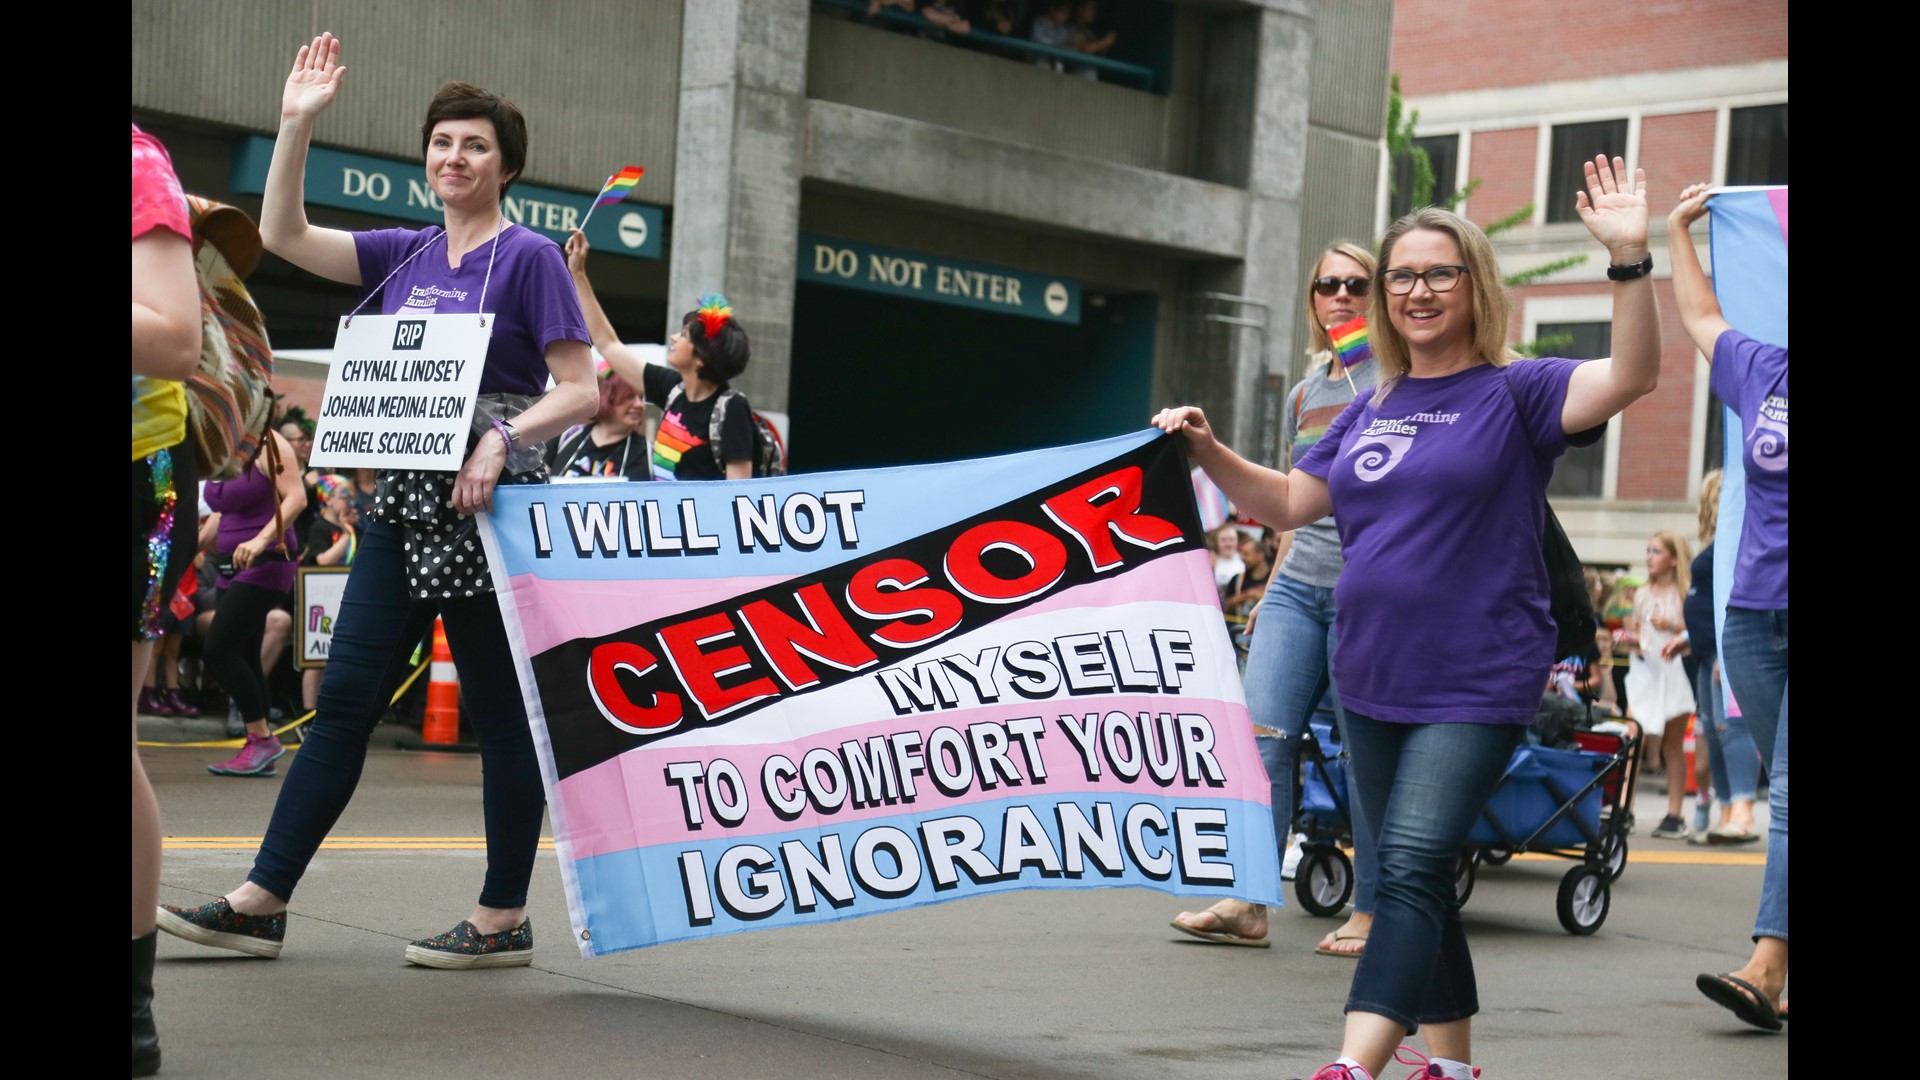
{"label": "dark-haired woman in purple t-shirt waving, wearing RIP sign", "polygon": [[261,238],[309,273],[371,290],[382,313],[484,315],[478,434],[459,473],[380,471],[371,521],[357,532],[319,711],[253,869],[211,903],[161,907],[159,924],[204,945],[280,953],[294,886],[353,798],[367,740],[438,615],[480,742],[488,869],[472,915],[413,942],[405,959],[438,969],[522,967],[534,959],[526,890],[545,790],[472,515],[493,507],[497,482],[545,479],[541,442],[589,419],[597,405],[593,357],[561,250],[501,213],[501,198],[526,167],[526,117],[495,92],[447,83],[426,106],[420,152],[426,183],[445,206],[442,227],[344,233],[307,221],[307,148],[344,77],[330,33],[300,48],[280,96]]}

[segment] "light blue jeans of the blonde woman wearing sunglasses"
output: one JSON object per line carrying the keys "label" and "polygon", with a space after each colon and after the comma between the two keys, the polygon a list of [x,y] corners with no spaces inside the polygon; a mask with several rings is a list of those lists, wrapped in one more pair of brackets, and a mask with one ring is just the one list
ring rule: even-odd
{"label": "light blue jeans of the blonde woman wearing sunglasses", "polygon": [[[1260,759],[1267,765],[1273,796],[1273,834],[1286,847],[1294,830],[1294,769],[1300,761],[1300,734],[1308,717],[1327,698],[1340,742],[1346,742],[1346,711],[1334,692],[1327,661],[1332,657],[1332,590],[1290,578],[1275,571],[1267,596],[1254,621],[1254,646],[1246,653],[1246,711],[1254,724],[1279,734],[1254,734]],[[1348,773],[1352,776],[1352,771]],[[1373,859],[1373,840],[1359,822],[1359,799],[1348,782],[1348,805],[1354,824],[1354,911],[1373,913],[1379,871]],[[1283,851],[1284,855],[1284,851]]]}

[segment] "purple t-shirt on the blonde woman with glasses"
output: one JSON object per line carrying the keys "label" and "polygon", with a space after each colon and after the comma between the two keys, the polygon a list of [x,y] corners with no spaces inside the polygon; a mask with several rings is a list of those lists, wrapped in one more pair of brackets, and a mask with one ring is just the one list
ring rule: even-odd
{"label": "purple t-shirt on the blonde woman with glasses", "polygon": [[[1540,553],[1578,359],[1361,390],[1296,465],[1327,480],[1346,573],[1332,680],[1394,723],[1526,724],[1553,667]],[[1603,429],[1582,432],[1578,444]]]}

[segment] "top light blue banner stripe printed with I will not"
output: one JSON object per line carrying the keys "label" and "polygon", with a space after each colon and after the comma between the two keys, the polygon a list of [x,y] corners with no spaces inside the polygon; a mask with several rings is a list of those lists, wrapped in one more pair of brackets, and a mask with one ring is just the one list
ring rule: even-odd
{"label": "top light blue banner stripe printed with I will not", "polygon": [[[858,538],[862,552],[891,548],[1079,475],[1160,434],[1144,429],[1002,457],[760,480],[507,484],[493,490],[493,538],[509,575],[547,580],[797,577],[852,557],[851,538]],[[743,523],[753,517],[770,519],[783,542],[770,548],[758,532],[743,536],[749,528]],[[616,553],[605,553],[607,548]],[[684,548],[707,553],[689,557]],[[647,559],[649,569],[636,571],[637,559]]]}

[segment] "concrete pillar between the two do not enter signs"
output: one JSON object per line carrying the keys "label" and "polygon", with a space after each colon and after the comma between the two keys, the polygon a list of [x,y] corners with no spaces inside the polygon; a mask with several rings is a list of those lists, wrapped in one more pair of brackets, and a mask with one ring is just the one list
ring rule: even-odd
{"label": "concrete pillar between the two do not enter signs", "polygon": [[737,380],[787,407],[806,131],[806,4],[693,0],[680,38],[680,123],[666,325],[718,288],[753,340]]}

